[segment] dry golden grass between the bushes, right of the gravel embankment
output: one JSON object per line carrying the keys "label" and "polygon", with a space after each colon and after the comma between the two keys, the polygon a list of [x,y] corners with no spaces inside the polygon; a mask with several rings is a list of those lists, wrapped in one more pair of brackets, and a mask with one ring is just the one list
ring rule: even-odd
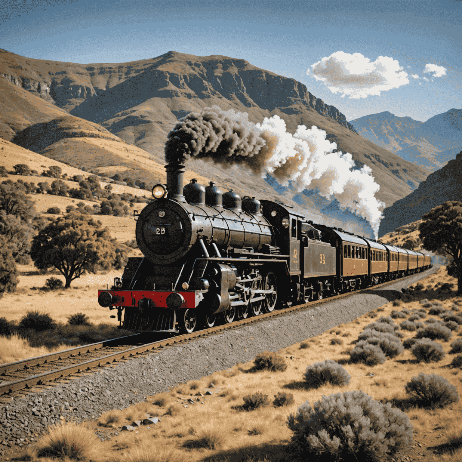
{"label": "dry golden grass between the bushes, right of the gravel embankment", "polygon": [[[313,404],[322,395],[362,389],[376,400],[391,401],[411,419],[413,446],[406,453],[395,455],[395,461],[461,461],[462,449],[458,448],[462,444],[462,401],[444,409],[421,408],[409,405],[404,390],[411,377],[424,372],[445,377],[456,386],[458,394],[462,394],[462,372],[449,367],[455,356],[449,354],[450,342],[460,338],[461,329],[453,331],[448,342],[436,340],[446,353],[438,363],[416,363],[409,350],[374,367],[348,363],[347,351],[354,346],[351,341],[358,338],[365,325],[377,320],[377,316],[389,316],[392,310],[404,307],[410,310],[420,308],[419,301],[424,298],[438,300],[448,309],[456,304],[462,310],[462,297],[456,297],[455,291],[438,291],[442,283],[455,282],[447,276],[444,267],[421,282],[425,287],[431,286],[436,290],[416,292],[411,300],[403,297],[400,306],[389,302],[353,322],[341,324],[277,352],[288,365],[286,371],[252,372],[253,362],[237,364],[201,380],[179,383],[169,391],[149,396],[144,402],[122,411],[107,412],[96,422],[80,426],[82,429],[78,437],[73,426],[57,428],[53,431],[54,435],[59,436],[57,433],[61,432],[59,438],[67,442],[73,438],[73,444],[76,444],[74,440],[77,438],[78,444],[86,445],[86,456],[97,462],[298,461],[302,459],[288,451],[291,432],[286,426],[286,419],[289,413],[294,413],[306,400]],[[423,321],[429,317],[437,316],[428,315]],[[395,319],[395,322],[401,320]],[[401,332],[405,335],[403,340],[415,334],[406,330]],[[351,376],[348,386],[328,384],[318,389],[306,388],[303,381],[306,367],[325,359],[334,359],[343,365]],[[213,395],[205,395],[207,390]],[[294,403],[288,407],[270,404],[251,412],[242,411],[243,396],[257,392],[268,395],[270,402],[278,392],[293,394]],[[196,393],[203,396],[195,396]],[[188,399],[198,401],[190,404]],[[144,418],[146,413],[160,417],[161,422],[140,426],[134,432],[121,431],[123,425]],[[91,431],[88,432],[85,426]],[[103,442],[93,434],[94,430],[105,433]],[[49,440],[43,438],[37,447],[29,446],[22,460],[50,460],[37,455],[40,448],[49,447]],[[392,459],[389,458],[389,461]]]}

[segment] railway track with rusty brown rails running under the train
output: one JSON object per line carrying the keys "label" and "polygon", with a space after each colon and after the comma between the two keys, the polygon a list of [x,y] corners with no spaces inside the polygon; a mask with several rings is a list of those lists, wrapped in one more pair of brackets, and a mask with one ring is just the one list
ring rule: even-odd
{"label": "railway track with rusty brown rails running under the train", "polygon": [[[427,270],[422,275],[427,273]],[[309,303],[287,307],[280,310],[275,310],[270,313],[264,313],[256,317],[241,319],[231,324],[214,326],[191,334],[184,334],[175,337],[168,337],[162,340],[156,340],[142,345],[121,346],[121,343],[130,342],[138,343],[143,339],[143,335],[134,334],[117,339],[106,340],[102,342],[92,343],[90,345],[78,346],[69,350],[64,350],[57,353],[49,353],[36,358],[23,359],[13,363],[0,365],[0,380],[5,382],[0,383],[0,396],[11,396],[14,392],[24,389],[32,389],[36,386],[52,385],[53,380],[69,377],[72,374],[79,372],[90,371],[93,368],[111,365],[120,360],[125,360],[137,354],[152,352],[158,348],[164,348],[176,343],[182,343],[198,337],[209,336],[219,332],[234,329],[243,325],[248,325],[255,322],[260,322],[276,316],[285,316],[289,313],[307,310],[324,303],[330,303],[335,300],[350,297],[354,294],[375,291],[377,289],[389,286],[396,282],[406,280],[416,276],[412,274],[400,278],[399,280],[387,281],[377,286],[368,287],[359,291],[348,292],[333,297],[323,298],[321,300],[312,301]],[[67,364],[71,363],[71,364]]]}

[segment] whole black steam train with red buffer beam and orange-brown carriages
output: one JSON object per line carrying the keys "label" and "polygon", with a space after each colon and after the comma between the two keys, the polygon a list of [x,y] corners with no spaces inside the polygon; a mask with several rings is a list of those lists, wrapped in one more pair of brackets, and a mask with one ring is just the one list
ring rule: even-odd
{"label": "whole black steam train with red buffer beam and orange-brown carriages", "polygon": [[241,199],[195,179],[183,188],[184,166],[165,169],[167,184],[134,212],[144,256],[129,258],[122,279],[98,291],[120,328],[191,333],[431,266],[420,252],[314,224],[279,202]]}

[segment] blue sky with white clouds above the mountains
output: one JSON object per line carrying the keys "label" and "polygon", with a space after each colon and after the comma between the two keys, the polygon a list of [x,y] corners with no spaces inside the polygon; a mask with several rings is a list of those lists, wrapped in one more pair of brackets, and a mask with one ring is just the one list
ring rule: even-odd
{"label": "blue sky with white clouds above the mountains", "polygon": [[0,47],[79,63],[226,55],[301,81],[347,120],[426,121],[462,107],[461,12],[460,0],[0,0]]}

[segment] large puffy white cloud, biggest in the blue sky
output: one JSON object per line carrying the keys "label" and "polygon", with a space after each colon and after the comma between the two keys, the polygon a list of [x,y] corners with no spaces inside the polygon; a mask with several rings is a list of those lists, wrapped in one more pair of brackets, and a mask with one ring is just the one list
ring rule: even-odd
{"label": "large puffy white cloud, biggest in the blue sky", "polygon": [[307,75],[321,81],[332,93],[360,99],[370,95],[380,96],[388,91],[407,85],[407,73],[398,61],[388,56],[379,56],[371,62],[360,53],[337,51],[321,61],[315,62]]}

